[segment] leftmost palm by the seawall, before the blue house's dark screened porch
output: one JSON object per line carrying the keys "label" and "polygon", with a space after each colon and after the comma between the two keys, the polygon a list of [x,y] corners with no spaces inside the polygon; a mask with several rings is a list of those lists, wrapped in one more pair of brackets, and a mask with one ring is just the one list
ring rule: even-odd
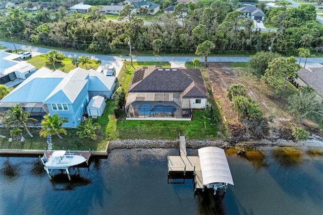
{"label": "leftmost palm by the seawall, before the blue house's dark screened porch", "polygon": [[26,129],[27,133],[30,137],[34,137],[28,130],[28,122],[37,121],[33,118],[29,118],[30,113],[28,111],[24,111],[19,104],[11,107],[4,117],[3,121],[8,122],[7,126],[16,126],[21,125],[24,129]]}

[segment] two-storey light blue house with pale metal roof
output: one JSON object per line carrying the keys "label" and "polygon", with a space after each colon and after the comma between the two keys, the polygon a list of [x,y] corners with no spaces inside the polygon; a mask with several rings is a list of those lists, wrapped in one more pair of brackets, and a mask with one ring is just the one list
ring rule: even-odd
{"label": "two-storey light blue house with pale metal roof", "polygon": [[67,120],[63,127],[76,128],[86,113],[90,98],[110,98],[116,77],[95,70],[76,68],[68,74],[41,68],[0,100],[0,111],[20,104],[39,122],[44,115],[59,114]]}

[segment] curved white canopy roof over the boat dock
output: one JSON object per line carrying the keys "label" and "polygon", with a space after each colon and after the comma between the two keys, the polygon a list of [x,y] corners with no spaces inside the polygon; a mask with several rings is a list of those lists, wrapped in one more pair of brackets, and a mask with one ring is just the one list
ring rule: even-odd
{"label": "curved white canopy roof over the boat dock", "polygon": [[218,147],[198,149],[203,184],[228,183],[233,185],[233,179],[224,150]]}

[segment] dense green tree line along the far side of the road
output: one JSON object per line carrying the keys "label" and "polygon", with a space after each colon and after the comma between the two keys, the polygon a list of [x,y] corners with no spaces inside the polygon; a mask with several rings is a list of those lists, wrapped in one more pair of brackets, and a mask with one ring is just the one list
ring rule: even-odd
{"label": "dense green tree line along the far side of the road", "polygon": [[297,55],[301,47],[323,51],[323,27],[316,22],[315,7],[310,4],[268,10],[265,23],[277,26],[277,32],[252,31],[252,20],[227,1],[178,4],[172,15],[160,15],[151,25],[129,14],[129,7],[120,11],[119,18],[130,16],[130,24],[104,19],[100,6],[91,7],[87,14],[68,16],[60,8],[55,17],[49,12],[27,16],[18,8],[8,9],[8,16],[0,18],[1,32],[9,36],[8,27],[13,36],[34,44],[104,54],[129,48],[129,40],[134,51],[151,53],[194,53],[206,40],[214,44],[211,53],[257,52],[270,46],[283,55]]}

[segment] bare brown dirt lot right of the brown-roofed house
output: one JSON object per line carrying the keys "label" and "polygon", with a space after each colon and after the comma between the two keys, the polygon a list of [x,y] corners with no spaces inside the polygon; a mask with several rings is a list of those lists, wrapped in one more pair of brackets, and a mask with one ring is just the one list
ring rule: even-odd
{"label": "bare brown dirt lot right of the brown-roofed house", "polygon": [[[222,120],[227,123],[233,136],[239,135],[241,132],[248,132],[246,128],[248,123],[238,120],[238,114],[231,109],[231,101],[226,97],[226,90],[232,84],[243,84],[248,90],[247,96],[258,102],[263,116],[270,119],[268,123],[270,132],[267,132],[267,135],[263,138],[292,139],[292,129],[295,126],[301,126],[299,118],[291,116],[286,111],[288,95],[295,90],[292,85],[288,84],[281,98],[273,98],[272,88],[265,84],[264,81],[257,80],[251,75],[243,63],[208,63],[208,67],[203,68],[202,72],[206,79],[207,87],[213,89],[210,96],[213,96],[217,101]],[[311,132],[319,133],[312,122],[307,121],[304,126]],[[316,129],[313,127],[316,127]],[[244,137],[238,139],[247,138],[254,138],[254,136],[245,134]]]}

